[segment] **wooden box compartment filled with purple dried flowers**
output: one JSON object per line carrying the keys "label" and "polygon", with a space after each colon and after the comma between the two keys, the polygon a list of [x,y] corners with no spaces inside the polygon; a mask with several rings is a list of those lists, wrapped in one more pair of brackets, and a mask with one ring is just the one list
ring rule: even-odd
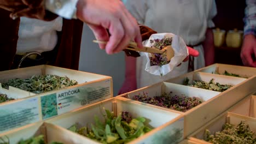
{"label": "wooden box compartment filled with purple dried flowers", "polygon": [[[148,93],[149,97],[154,97],[154,96],[160,96],[161,94],[170,93],[170,92],[172,92],[172,95],[184,94],[188,97],[199,97],[203,100],[202,104],[197,105],[196,107],[193,107],[192,109],[186,112],[182,112],[184,114],[184,125],[185,125],[184,136],[188,136],[197,128],[200,128],[202,124],[205,124],[207,121],[210,121],[212,118],[216,116],[216,115],[215,116],[209,115],[208,111],[206,110],[211,110],[211,107],[208,107],[207,104],[208,102],[214,100],[214,98],[220,97],[219,95],[220,92],[209,91],[201,88],[177,85],[175,83],[160,82],[149,87],[138,89],[137,91],[119,95],[118,97],[124,100],[126,99],[124,97],[127,97],[131,99],[130,101],[133,101],[134,103],[149,105],[151,107],[158,107],[159,109],[164,109],[167,111],[174,111],[164,107],[146,104],[146,103],[142,103],[140,101],[134,100],[134,96],[138,94]],[[126,100],[129,101],[129,99],[126,99]],[[200,122],[200,123],[193,123],[193,122]]]}

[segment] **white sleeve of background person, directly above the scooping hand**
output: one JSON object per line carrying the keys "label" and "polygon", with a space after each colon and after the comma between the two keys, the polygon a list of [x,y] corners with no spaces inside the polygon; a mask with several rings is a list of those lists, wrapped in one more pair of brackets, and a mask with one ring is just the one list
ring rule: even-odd
{"label": "white sleeve of background person, directly above the scooping hand", "polygon": [[137,20],[138,23],[144,24],[145,16],[148,10],[146,0],[123,0],[125,7]]}

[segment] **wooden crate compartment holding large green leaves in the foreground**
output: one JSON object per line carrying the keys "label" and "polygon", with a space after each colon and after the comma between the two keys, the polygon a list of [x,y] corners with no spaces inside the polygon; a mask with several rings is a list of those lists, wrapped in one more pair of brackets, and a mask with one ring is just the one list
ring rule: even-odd
{"label": "wooden crate compartment holding large green leaves in the foreground", "polygon": [[[130,143],[177,143],[184,139],[183,127],[184,118],[182,113],[155,109],[148,105],[140,105],[131,101],[124,101],[117,98],[108,99],[95,103],[83,109],[75,110],[72,113],[48,119],[46,122],[69,128],[77,123],[80,126],[94,123],[94,116],[98,116],[103,121],[103,109],[112,110],[118,114],[121,111],[131,112],[133,118],[144,117],[148,126],[153,127],[152,131],[144,134]],[[73,132],[71,132],[73,133]],[[77,134],[78,135],[78,134]],[[98,143],[84,137],[78,143]]]}

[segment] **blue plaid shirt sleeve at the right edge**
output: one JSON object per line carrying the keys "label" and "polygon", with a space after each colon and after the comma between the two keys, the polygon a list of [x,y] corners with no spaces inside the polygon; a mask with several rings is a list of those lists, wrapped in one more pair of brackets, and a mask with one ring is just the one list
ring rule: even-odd
{"label": "blue plaid shirt sleeve at the right edge", "polygon": [[243,34],[253,34],[256,36],[256,1],[246,0],[247,7],[245,9],[245,27],[243,28]]}

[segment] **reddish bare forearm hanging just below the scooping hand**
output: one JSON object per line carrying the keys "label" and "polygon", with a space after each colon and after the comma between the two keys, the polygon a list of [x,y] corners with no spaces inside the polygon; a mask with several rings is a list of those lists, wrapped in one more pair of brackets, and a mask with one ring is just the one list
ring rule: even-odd
{"label": "reddish bare forearm hanging just below the scooping hand", "polygon": [[125,77],[136,80],[136,57],[125,56]]}

